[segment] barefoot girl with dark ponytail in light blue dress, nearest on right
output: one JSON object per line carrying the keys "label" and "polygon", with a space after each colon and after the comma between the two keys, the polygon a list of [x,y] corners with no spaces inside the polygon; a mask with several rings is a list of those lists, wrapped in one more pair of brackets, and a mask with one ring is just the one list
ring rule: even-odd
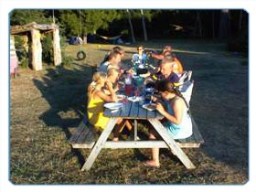
{"label": "barefoot girl with dark ponytail in light blue dress, nearest on right", "polygon": [[[152,100],[156,101],[156,110],[160,112],[164,119],[162,123],[167,133],[174,139],[185,139],[192,134],[192,122],[189,114],[187,113],[187,103],[182,94],[176,90],[173,83],[169,80],[160,80],[156,83],[156,90],[162,98],[153,97]],[[153,129],[149,133],[149,139],[155,140],[158,135]],[[146,161],[145,165],[160,166],[159,162],[159,148],[152,148],[152,160]]]}

